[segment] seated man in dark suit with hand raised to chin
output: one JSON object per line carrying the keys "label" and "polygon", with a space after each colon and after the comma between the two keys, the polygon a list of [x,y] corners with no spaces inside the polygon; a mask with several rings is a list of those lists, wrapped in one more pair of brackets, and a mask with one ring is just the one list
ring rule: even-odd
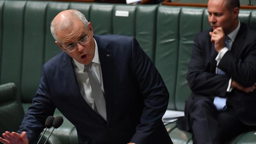
{"label": "seated man in dark suit with hand raised to chin", "polygon": [[222,144],[256,126],[256,32],[238,20],[239,0],[209,0],[209,31],[195,37],[191,95],[178,127],[194,144]]}

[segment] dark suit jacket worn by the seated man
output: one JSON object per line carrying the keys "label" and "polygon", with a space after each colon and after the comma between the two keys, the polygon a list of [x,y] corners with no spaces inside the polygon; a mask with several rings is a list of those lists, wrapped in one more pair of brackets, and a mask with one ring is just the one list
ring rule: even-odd
{"label": "dark suit jacket worn by the seated man", "polygon": [[[204,31],[195,37],[187,74],[192,91],[189,98],[226,97],[227,105],[233,107],[244,124],[256,126],[256,90],[245,93],[234,88],[232,92],[226,92],[230,77],[244,87],[250,87],[256,82],[256,32],[241,23],[231,51],[226,52],[218,65],[226,75],[215,73],[215,57],[218,53],[211,42],[209,32],[210,30]],[[188,122],[184,126],[178,123],[178,126],[183,130],[189,130]]]}

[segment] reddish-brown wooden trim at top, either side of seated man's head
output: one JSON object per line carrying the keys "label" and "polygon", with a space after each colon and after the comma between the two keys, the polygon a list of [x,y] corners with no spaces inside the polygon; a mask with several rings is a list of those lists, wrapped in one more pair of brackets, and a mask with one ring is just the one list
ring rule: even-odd
{"label": "reddish-brown wooden trim at top, either side of seated man's head", "polygon": [[[193,4],[193,3],[177,3],[179,0],[170,2],[170,0],[165,0],[162,2],[163,5],[168,6],[191,6],[191,7],[207,7],[207,4]],[[256,9],[256,6],[240,6],[240,9]]]}

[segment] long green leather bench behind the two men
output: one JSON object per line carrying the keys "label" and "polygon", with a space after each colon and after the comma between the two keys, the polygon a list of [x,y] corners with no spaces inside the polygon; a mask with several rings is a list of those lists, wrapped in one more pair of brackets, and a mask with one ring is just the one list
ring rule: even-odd
{"label": "long green leather bench behind the two men", "polygon": [[[0,84],[16,84],[25,113],[39,85],[43,63],[61,52],[50,33],[50,22],[65,9],[84,13],[95,35],[135,37],[167,85],[168,109],[184,111],[190,94],[186,74],[193,39],[196,33],[210,28],[206,8],[0,0]],[[241,9],[239,18],[256,29],[256,10]],[[56,110],[54,115],[61,113]],[[20,119],[16,121],[20,123]],[[11,125],[9,130],[13,130]],[[192,143],[191,133],[180,131],[175,122],[166,128],[175,144]],[[255,133],[243,133],[230,144],[256,143]],[[66,118],[54,135],[62,144],[78,143],[76,129]]]}

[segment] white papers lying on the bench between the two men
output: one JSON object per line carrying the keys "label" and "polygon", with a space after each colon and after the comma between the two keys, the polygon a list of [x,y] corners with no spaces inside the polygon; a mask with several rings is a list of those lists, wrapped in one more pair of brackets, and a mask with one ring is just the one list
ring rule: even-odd
{"label": "white papers lying on the bench between the two men", "polygon": [[163,115],[162,121],[163,121],[163,124],[166,125],[171,122],[175,122],[176,120],[178,120],[178,118],[182,116],[185,116],[184,111],[167,110]]}

